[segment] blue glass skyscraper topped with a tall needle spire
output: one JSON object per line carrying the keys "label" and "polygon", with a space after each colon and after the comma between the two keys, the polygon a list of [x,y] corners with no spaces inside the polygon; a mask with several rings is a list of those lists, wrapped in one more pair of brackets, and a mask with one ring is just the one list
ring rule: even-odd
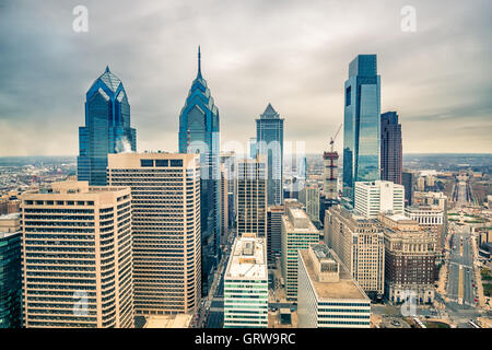
{"label": "blue glass skyscraper topped with a tall needle spire", "polygon": [[200,153],[201,273],[202,295],[213,280],[220,259],[220,118],[219,109],[201,75],[198,47],[198,73],[179,115],[179,153]]}

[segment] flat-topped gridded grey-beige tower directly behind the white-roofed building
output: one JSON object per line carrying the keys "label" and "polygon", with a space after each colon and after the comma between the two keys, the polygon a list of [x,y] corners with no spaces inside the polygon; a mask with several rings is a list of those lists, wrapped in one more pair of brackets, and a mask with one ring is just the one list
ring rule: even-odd
{"label": "flat-topped gridded grey-beige tower directly behind the white-roofed building", "polygon": [[267,158],[237,162],[237,235],[255,233],[267,237]]}

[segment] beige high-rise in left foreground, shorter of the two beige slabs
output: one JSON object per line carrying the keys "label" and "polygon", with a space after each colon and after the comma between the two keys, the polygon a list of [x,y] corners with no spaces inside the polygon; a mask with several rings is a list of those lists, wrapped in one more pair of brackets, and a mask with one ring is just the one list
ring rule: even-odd
{"label": "beige high-rise in left foreground, shorter of the two beige slabs", "polygon": [[131,195],[62,182],[22,200],[27,328],[133,328]]}

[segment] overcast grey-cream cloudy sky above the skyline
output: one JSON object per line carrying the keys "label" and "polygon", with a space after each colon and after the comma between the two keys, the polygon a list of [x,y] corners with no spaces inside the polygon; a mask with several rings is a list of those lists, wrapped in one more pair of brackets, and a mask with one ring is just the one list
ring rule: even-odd
{"label": "overcast grey-cream cloudy sky above the skyline", "polygon": [[[87,33],[72,30],[79,4]],[[403,5],[414,33],[401,31]],[[128,93],[138,150],[177,151],[199,44],[222,142],[246,144],[271,102],[286,141],[323,152],[343,122],[349,62],[377,54],[403,153],[490,153],[491,13],[490,0],[0,0],[0,156],[78,154],[85,93],[106,65]]]}

